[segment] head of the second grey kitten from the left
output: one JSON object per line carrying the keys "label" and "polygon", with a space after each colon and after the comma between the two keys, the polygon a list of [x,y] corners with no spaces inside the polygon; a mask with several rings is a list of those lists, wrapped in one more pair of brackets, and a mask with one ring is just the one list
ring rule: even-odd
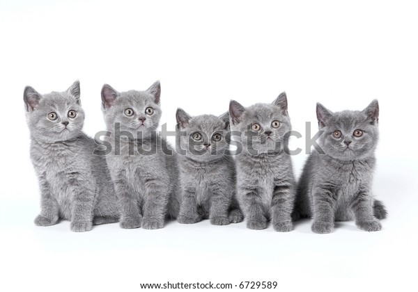
{"label": "head of the second grey kitten from the left", "polygon": [[109,131],[116,123],[121,131],[132,133],[134,138],[148,138],[156,131],[161,117],[160,81],[145,91],[117,92],[111,86],[102,87],[102,110]]}

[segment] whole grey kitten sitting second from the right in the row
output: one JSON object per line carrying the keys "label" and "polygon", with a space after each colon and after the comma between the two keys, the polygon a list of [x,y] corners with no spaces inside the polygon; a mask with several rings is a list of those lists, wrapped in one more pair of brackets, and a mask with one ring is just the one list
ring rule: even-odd
{"label": "whole grey kitten sitting second from the right in the row", "polygon": [[291,231],[295,179],[285,145],[291,131],[286,94],[272,104],[248,108],[231,101],[229,114],[231,129],[238,131],[243,147],[236,156],[237,185],[247,227],[264,229],[271,220],[276,231]]}

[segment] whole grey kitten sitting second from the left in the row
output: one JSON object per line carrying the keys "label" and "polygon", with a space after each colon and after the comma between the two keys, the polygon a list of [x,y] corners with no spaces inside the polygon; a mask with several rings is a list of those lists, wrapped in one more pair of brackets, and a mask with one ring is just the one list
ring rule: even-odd
{"label": "whole grey kitten sitting second from the left in the row", "polygon": [[178,165],[167,141],[157,135],[160,82],[146,91],[117,92],[105,84],[102,111],[111,136],[107,165],[121,206],[122,228],[158,229],[167,213],[176,218]]}

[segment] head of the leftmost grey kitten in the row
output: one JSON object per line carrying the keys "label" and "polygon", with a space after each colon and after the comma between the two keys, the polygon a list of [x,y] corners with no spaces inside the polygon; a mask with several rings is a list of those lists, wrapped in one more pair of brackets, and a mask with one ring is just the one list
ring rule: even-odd
{"label": "head of the leftmost grey kitten in the row", "polygon": [[24,88],[26,122],[31,136],[47,143],[70,140],[82,133],[84,111],[79,81],[63,92],[41,95],[31,86]]}

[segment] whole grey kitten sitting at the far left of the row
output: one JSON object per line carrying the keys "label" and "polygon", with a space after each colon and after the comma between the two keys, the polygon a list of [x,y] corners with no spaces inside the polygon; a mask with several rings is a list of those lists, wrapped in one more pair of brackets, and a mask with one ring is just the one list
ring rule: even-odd
{"label": "whole grey kitten sitting at the far left of the row", "polygon": [[24,88],[26,121],[31,133],[31,160],[40,185],[40,215],[35,224],[71,220],[71,230],[117,222],[118,209],[109,170],[93,155],[95,141],[83,131],[79,81],[64,92],[40,95]]}

